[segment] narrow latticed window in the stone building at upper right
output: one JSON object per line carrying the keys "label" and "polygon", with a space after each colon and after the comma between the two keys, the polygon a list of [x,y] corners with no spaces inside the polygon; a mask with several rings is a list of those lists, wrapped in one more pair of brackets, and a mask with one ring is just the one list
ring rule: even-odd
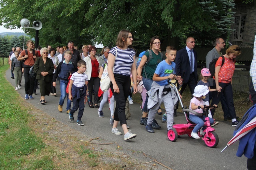
{"label": "narrow latticed window in the stone building at upper right", "polygon": [[235,16],[234,22],[234,41],[242,41],[244,34],[245,15]]}

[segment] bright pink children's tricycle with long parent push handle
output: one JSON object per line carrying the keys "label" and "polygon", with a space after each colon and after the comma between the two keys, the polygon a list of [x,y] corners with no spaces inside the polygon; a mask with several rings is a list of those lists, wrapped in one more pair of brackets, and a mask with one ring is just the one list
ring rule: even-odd
{"label": "bright pink children's tricycle with long parent push handle", "polygon": [[[172,82],[170,82],[170,79],[168,79],[168,82],[169,82],[169,84],[171,84],[171,86],[173,86],[173,88],[176,91],[176,94],[177,94],[177,97],[179,98],[179,101],[181,103],[182,111],[184,112],[187,124],[173,125],[173,128],[168,130],[167,137],[172,142],[175,142],[177,140],[177,138],[180,137],[180,135],[185,135],[185,134],[187,134],[190,138],[193,138],[191,136],[191,132],[194,129],[194,127],[196,126],[196,124],[193,123],[189,119],[189,112],[191,112],[193,114],[196,114],[196,115],[198,115],[198,113],[191,110],[191,109],[187,109],[186,106],[185,107],[183,106],[181,98],[180,98],[179,93],[178,93],[179,91],[178,91],[178,89],[175,85],[177,83],[177,81],[175,83],[172,83]],[[206,118],[205,118],[206,122],[204,122],[204,126],[206,128],[203,131],[204,135],[200,135],[200,130],[198,131],[198,136],[203,137],[202,140],[204,140],[204,143],[210,148],[214,148],[215,146],[218,145],[218,142],[219,142],[218,135],[215,132],[213,132],[215,129],[211,127],[210,120],[209,120],[209,117],[208,117],[209,108],[212,108],[212,107],[215,108],[215,106],[204,106],[205,116],[206,116]],[[198,108],[200,109],[201,107],[198,106]]]}

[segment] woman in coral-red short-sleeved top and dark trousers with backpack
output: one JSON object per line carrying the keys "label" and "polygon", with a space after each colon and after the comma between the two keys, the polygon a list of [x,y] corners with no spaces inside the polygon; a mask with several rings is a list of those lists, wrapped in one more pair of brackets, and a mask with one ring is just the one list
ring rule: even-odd
{"label": "woman in coral-red short-sleeved top and dark trousers with backpack", "polygon": [[[229,109],[230,118],[232,119],[232,126],[237,126],[239,121],[236,120],[236,111],[233,101],[233,89],[232,89],[232,76],[235,69],[235,58],[241,54],[240,48],[237,45],[232,45],[226,50],[226,54],[219,57],[215,64],[215,74],[213,76],[213,87],[217,91],[213,92],[212,103],[218,105],[224,93],[226,102]],[[223,63],[224,60],[224,63]],[[212,117],[215,109],[211,109]]]}

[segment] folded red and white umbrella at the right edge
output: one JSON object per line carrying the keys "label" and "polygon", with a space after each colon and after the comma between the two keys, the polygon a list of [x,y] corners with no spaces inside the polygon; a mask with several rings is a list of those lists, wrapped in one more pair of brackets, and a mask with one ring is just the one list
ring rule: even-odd
{"label": "folded red and white umbrella at the right edge", "polygon": [[256,117],[254,117],[249,123],[247,123],[242,129],[240,129],[236,135],[227,143],[227,146],[221,151],[223,152],[228,146],[241,139],[244,135],[249,133],[253,128],[256,127]]}

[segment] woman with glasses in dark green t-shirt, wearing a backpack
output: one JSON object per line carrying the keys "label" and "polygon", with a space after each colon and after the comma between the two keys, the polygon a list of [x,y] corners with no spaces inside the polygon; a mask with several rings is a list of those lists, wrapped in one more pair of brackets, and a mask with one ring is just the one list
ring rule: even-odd
{"label": "woman with glasses in dark green t-shirt, wearing a backpack", "polygon": [[[151,84],[153,83],[153,75],[156,71],[157,65],[162,61],[162,53],[158,50],[160,49],[161,42],[159,40],[159,37],[154,36],[150,40],[150,50],[146,51],[144,55],[141,58],[140,65],[138,66],[137,73],[138,78],[143,81],[143,85],[146,88],[147,91],[150,91]],[[144,103],[144,106],[142,106],[143,114],[142,118],[140,120],[140,124],[144,124],[146,126],[147,124],[147,97],[146,101]],[[159,107],[158,114],[162,114],[161,108]],[[153,120],[152,127],[154,129],[161,128],[156,120]]]}

